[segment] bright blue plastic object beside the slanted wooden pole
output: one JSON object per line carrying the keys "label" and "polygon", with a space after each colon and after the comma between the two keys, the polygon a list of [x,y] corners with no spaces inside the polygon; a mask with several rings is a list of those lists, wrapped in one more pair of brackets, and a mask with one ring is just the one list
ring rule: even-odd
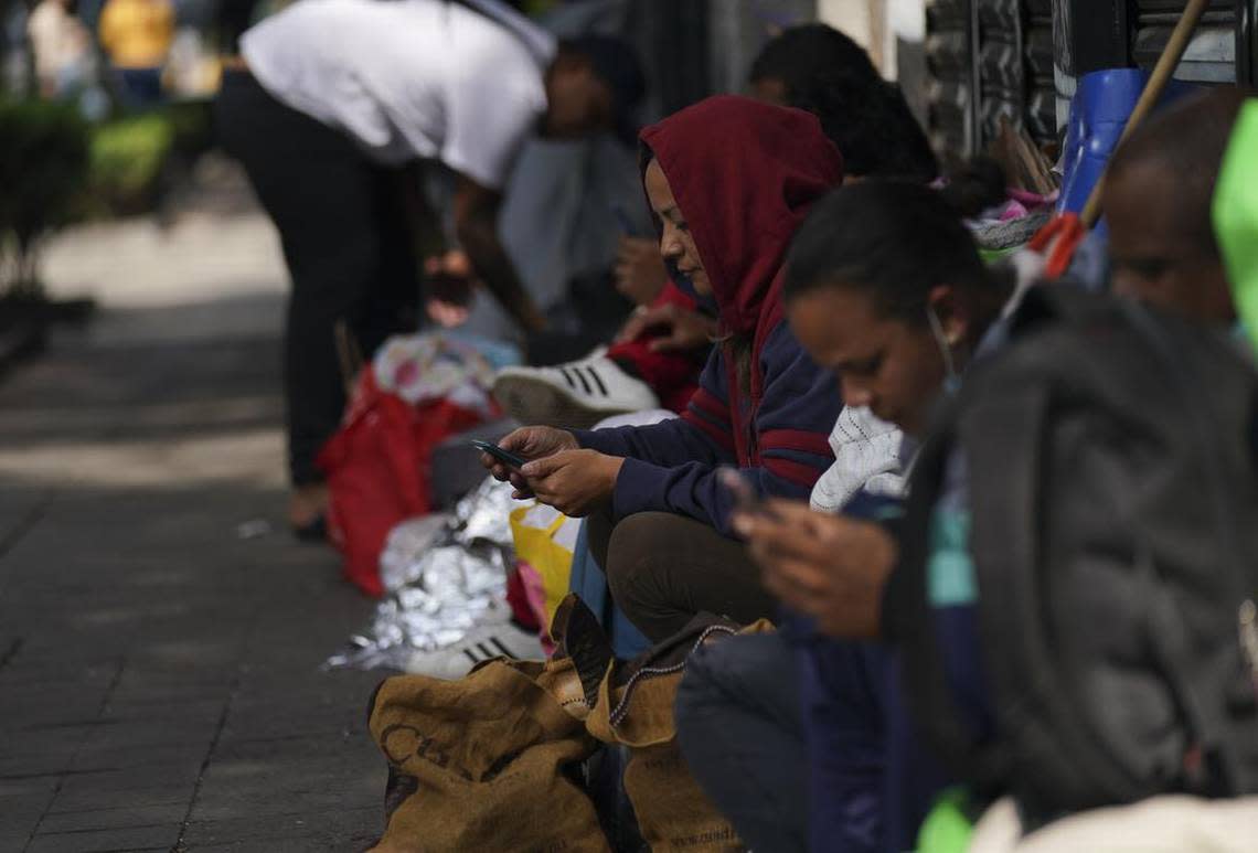
{"label": "bright blue plastic object beside the slanted wooden pole", "polygon": [[[1071,117],[1066,128],[1062,152],[1064,175],[1057,210],[1082,213],[1088,194],[1101,180],[1110,155],[1118,146],[1118,137],[1136,108],[1140,93],[1149,82],[1149,73],[1138,68],[1110,68],[1079,78],[1071,101]],[[1199,87],[1171,81],[1157,102],[1157,108],[1198,91]],[[1097,223],[1105,233],[1105,223]]]}

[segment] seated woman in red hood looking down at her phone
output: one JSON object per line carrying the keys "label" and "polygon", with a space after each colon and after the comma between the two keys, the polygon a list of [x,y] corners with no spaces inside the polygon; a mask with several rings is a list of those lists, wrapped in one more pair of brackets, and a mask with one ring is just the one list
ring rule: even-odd
{"label": "seated woman in red hood looking down at her phone", "polygon": [[735,497],[717,468],[759,494],[806,498],[833,460],[842,403],[782,316],[781,267],[795,228],[843,179],[816,117],[720,96],[642,132],[643,184],[673,281],[718,317],[718,346],[687,410],[653,426],[526,426],[501,445],[527,459],[518,497],[591,516],[590,546],[613,598],[650,639],[710,610],[740,622],[774,603],[730,537]]}

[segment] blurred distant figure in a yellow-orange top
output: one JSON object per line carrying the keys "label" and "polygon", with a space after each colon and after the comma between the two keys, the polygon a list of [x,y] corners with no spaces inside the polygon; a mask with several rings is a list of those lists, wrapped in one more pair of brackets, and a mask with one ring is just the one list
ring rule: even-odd
{"label": "blurred distant figure in a yellow-orange top", "polygon": [[170,0],[108,0],[101,11],[99,36],[122,104],[141,109],[159,103],[162,68],[175,39]]}

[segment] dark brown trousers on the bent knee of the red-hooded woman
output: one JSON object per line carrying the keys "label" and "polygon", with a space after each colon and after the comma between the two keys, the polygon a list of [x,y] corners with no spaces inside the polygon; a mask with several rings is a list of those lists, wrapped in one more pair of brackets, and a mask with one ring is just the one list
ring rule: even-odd
{"label": "dark brown trousers on the bent knee of the red-hooded woman", "polygon": [[596,512],[587,527],[611,599],[653,643],[686,628],[697,613],[743,624],[775,613],[746,549],[710,525],[668,512],[639,512],[613,525]]}

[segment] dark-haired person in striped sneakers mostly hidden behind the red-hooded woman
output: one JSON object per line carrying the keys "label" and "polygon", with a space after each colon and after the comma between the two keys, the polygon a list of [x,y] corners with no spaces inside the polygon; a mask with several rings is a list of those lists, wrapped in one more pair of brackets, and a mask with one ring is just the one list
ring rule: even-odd
{"label": "dark-haired person in striped sneakers mostly hidden behind the red-hooded woman", "polygon": [[[938,175],[899,89],[832,26],[801,24],[776,35],[752,62],[747,91],[759,101],[814,113],[843,155],[848,177],[926,184]],[[493,393],[507,414],[522,424],[589,428],[629,411],[686,410],[716,320],[668,281],[649,238],[621,238],[615,282],[638,306],[616,338],[576,361],[502,370]]]}

